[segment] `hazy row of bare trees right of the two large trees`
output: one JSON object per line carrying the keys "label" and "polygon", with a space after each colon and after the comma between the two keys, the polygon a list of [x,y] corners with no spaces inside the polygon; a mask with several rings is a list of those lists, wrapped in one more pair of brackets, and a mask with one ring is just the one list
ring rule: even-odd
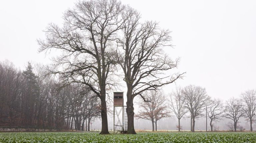
{"label": "hazy row of bare trees right of the two large trees", "polygon": [[250,123],[250,131],[253,130],[252,124],[256,119],[256,90],[245,91],[241,93],[240,98],[232,97],[225,104],[221,99],[212,99],[208,96],[205,88],[195,85],[176,88],[169,95],[169,101],[162,91],[151,91],[148,95],[151,102],[138,102],[140,110],[135,117],[151,120],[152,131],[154,122],[156,127],[157,120],[170,116],[176,116],[178,119],[178,131],[182,129],[180,119],[188,116],[191,119],[192,132],[195,131],[195,119],[205,116],[210,120],[211,131],[214,122],[223,118],[232,120],[227,126],[230,130],[237,131],[237,123],[241,117]]}

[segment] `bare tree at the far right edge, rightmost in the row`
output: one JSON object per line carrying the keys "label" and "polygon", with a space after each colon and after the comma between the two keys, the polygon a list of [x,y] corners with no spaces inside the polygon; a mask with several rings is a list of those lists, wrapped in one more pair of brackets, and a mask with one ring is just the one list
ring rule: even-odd
{"label": "bare tree at the far right edge, rightmost in the row", "polygon": [[252,131],[252,123],[255,121],[254,117],[256,113],[256,90],[248,90],[241,95],[244,102],[243,109],[246,116],[249,118],[250,131]]}

